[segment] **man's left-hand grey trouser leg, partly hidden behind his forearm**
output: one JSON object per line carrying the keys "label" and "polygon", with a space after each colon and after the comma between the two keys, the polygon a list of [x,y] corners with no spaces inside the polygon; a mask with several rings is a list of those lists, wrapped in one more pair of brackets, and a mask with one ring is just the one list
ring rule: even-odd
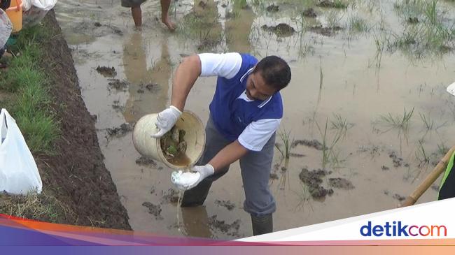
{"label": "man's left-hand grey trouser leg, partly hidden behind his forearm", "polygon": [[[218,133],[214,123],[212,122],[211,118],[209,117],[209,121],[205,127],[205,147],[204,153],[202,154],[201,159],[197,162],[197,166],[204,166],[205,164],[209,163],[209,161],[223,149],[226,145],[230,142],[226,140],[221,133]],[[222,168],[217,171],[216,174],[211,175],[193,189],[188,189],[183,194],[183,198],[181,201],[181,207],[193,207],[197,205],[202,205],[207,198],[207,194],[209,194],[209,190],[211,187],[211,183],[217,180],[219,177],[228,173],[229,166]]]}

